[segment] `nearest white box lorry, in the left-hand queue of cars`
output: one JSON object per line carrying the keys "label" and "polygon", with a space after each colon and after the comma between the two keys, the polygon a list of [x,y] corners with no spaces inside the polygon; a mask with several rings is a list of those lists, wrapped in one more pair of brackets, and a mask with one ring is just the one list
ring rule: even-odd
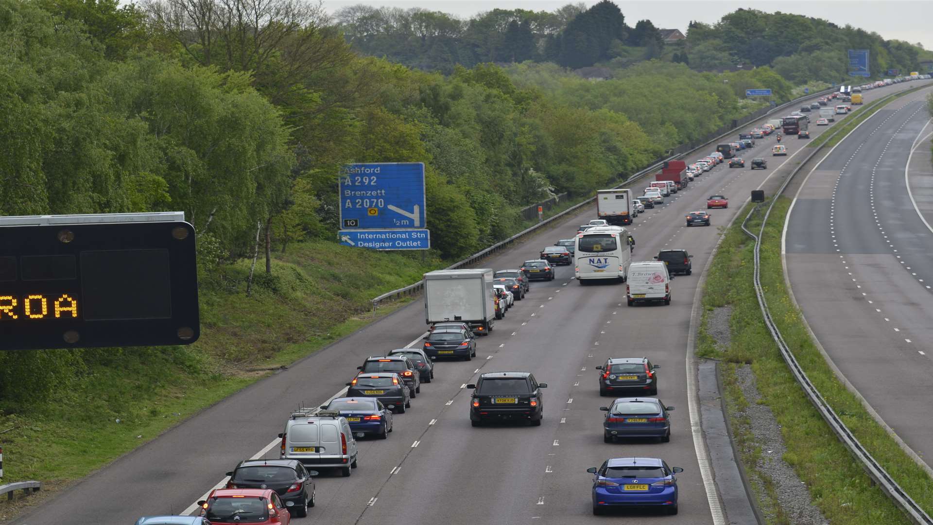
{"label": "nearest white box lorry, in the left-hand queue of cars", "polygon": [[425,323],[462,321],[489,334],[495,320],[493,270],[435,270],[424,276]]}

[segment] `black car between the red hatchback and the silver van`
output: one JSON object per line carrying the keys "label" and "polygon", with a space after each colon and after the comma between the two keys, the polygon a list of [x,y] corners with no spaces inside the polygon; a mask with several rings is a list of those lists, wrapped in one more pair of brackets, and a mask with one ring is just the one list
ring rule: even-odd
{"label": "black car between the red hatchback and the silver van", "polygon": [[296,518],[308,516],[308,507],[314,506],[314,480],[317,471],[309,471],[298,460],[246,460],[237,463],[227,473],[228,489],[269,489],[282,498],[283,504]]}

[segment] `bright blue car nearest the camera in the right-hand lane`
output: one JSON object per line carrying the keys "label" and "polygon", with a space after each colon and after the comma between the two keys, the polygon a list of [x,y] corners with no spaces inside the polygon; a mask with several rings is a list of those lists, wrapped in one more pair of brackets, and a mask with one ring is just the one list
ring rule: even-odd
{"label": "bright blue car nearest the camera in the right-hand lane", "polygon": [[598,469],[586,470],[596,475],[592,481],[592,513],[602,515],[612,507],[656,506],[677,514],[676,473],[658,458],[613,458]]}

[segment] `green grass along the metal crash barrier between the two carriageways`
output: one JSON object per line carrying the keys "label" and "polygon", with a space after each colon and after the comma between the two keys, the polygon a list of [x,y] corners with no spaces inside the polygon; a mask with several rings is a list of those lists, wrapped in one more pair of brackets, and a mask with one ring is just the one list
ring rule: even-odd
{"label": "green grass along the metal crash barrier between the two carriageways", "polygon": [[[773,319],[810,380],[862,445],[915,501],[930,512],[933,510],[933,490],[930,490],[933,480],[904,454],[855,396],[837,380],[801,323],[801,313],[787,295],[781,269],[781,231],[790,202],[790,199],[781,197],[775,204],[761,247],[761,284]],[[760,220],[750,220],[750,223],[757,231]],[[853,525],[910,523],[882,490],[871,485],[869,476],[829,430],[787,369],[761,318],[752,285],[753,248],[754,242],[742,232],[739,221],[736,221],[717,251],[703,290],[704,319],[698,338],[698,355],[726,362],[723,376],[727,385],[727,405],[732,406],[741,405],[745,400],[736,395],[735,388],[729,388],[735,382],[734,367],[730,363],[751,365],[762,399],[771,407],[781,425],[787,445],[784,459],[807,484],[814,504],[830,522]],[[705,332],[705,317],[723,305],[732,305],[731,343],[728,348],[717,349],[713,338]],[[736,423],[737,435],[733,437],[743,443],[743,439],[748,438],[747,424],[744,427],[742,421]],[[753,473],[754,453],[743,454],[742,460],[746,470]],[[759,499],[763,506],[774,504],[773,496],[769,494],[761,494]]]}

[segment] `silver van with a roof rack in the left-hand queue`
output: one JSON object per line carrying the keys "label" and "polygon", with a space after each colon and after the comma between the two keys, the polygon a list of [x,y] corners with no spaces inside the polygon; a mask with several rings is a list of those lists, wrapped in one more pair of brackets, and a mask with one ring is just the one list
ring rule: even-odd
{"label": "silver van with a roof rack in the left-hand queue", "polygon": [[280,433],[279,457],[313,469],[337,468],[348,476],[356,468],[356,439],[337,410],[304,409],[292,413]]}

